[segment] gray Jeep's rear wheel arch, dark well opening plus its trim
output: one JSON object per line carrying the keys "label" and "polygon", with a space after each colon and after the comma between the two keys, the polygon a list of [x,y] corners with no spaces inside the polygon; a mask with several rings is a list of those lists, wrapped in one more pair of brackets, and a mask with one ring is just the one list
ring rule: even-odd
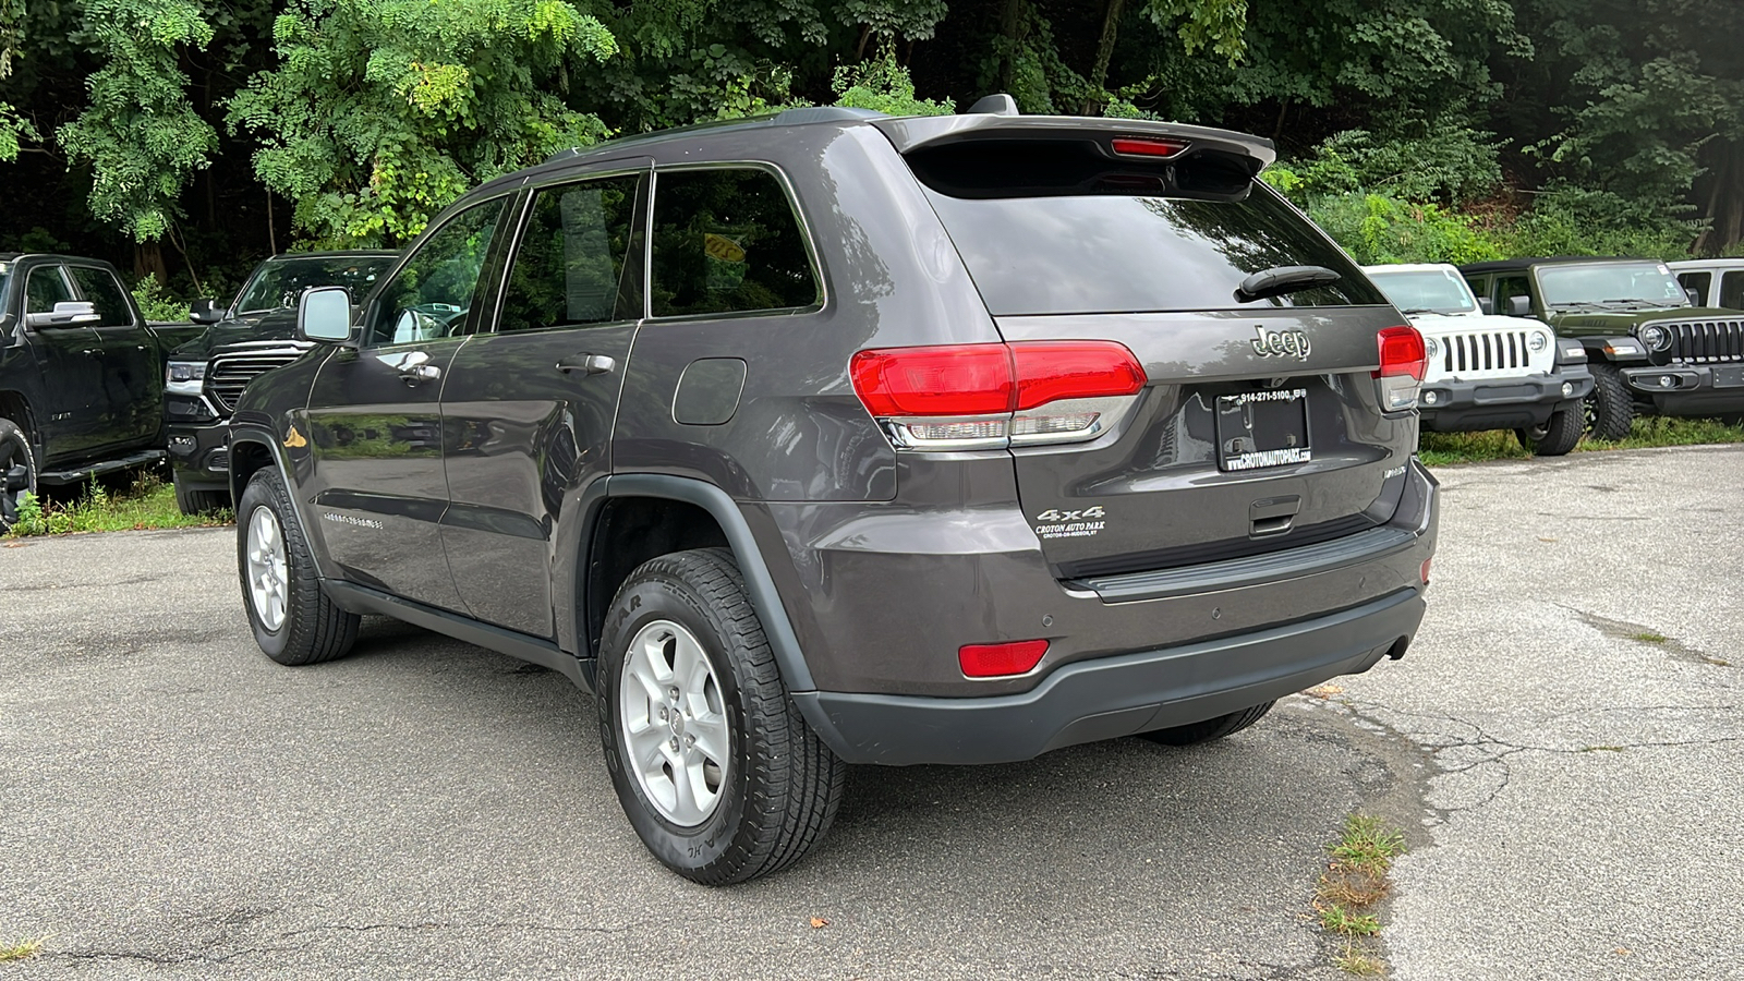
{"label": "gray Jeep's rear wheel arch, dark well opening plus its trim", "polygon": [[[813,691],[811,669],[800,653],[794,625],[781,606],[781,593],[769,574],[769,564],[752,534],[745,513],[726,490],[713,484],[659,473],[619,473],[607,478],[602,504],[584,548],[584,574],[577,576],[577,648],[596,655],[605,613],[617,587],[642,562],[656,555],[692,548],[720,546],[745,576],[745,592],[762,621],[776,667],[788,691]],[[635,534],[637,522],[666,518],[654,534]]]}

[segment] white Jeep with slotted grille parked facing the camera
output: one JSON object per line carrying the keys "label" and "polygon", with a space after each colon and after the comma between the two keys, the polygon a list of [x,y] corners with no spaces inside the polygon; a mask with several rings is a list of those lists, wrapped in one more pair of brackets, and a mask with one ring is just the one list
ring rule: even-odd
{"label": "white Jeep with slotted grille parked facing the camera", "polygon": [[1538,456],[1563,456],[1587,429],[1587,353],[1536,319],[1482,309],[1446,264],[1366,265],[1364,272],[1423,333],[1428,368],[1418,410],[1423,429],[1514,429]]}

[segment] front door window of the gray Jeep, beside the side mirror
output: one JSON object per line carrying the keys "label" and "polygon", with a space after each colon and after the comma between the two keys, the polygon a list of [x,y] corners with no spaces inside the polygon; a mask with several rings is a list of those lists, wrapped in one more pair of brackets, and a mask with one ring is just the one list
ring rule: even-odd
{"label": "front door window of the gray Jeep, beside the side mirror", "polygon": [[466,330],[502,204],[502,197],[474,204],[424,239],[382,288],[364,344],[412,344]]}

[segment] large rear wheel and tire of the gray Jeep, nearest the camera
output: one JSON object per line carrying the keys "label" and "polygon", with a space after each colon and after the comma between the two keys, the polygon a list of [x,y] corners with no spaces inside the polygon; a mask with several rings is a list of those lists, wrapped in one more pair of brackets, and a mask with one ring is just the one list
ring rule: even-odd
{"label": "large rear wheel and tire of the gray Jeep, nearest the camera", "polygon": [[595,691],[624,815],[680,876],[732,885],[780,871],[835,819],[848,766],[781,684],[726,548],[630,574],[605,616]]}

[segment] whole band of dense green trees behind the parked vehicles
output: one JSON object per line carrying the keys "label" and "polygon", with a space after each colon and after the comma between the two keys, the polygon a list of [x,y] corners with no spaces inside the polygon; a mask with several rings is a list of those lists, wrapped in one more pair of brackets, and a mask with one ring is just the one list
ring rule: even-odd
{"label": "whole band of dense green trees behind the parked vehicles", "polygon": [[211,293],[562,147],[992,91],[1270,136],[1366,262],[1744,237],[1735,0],[0,0],[0,250]]}

